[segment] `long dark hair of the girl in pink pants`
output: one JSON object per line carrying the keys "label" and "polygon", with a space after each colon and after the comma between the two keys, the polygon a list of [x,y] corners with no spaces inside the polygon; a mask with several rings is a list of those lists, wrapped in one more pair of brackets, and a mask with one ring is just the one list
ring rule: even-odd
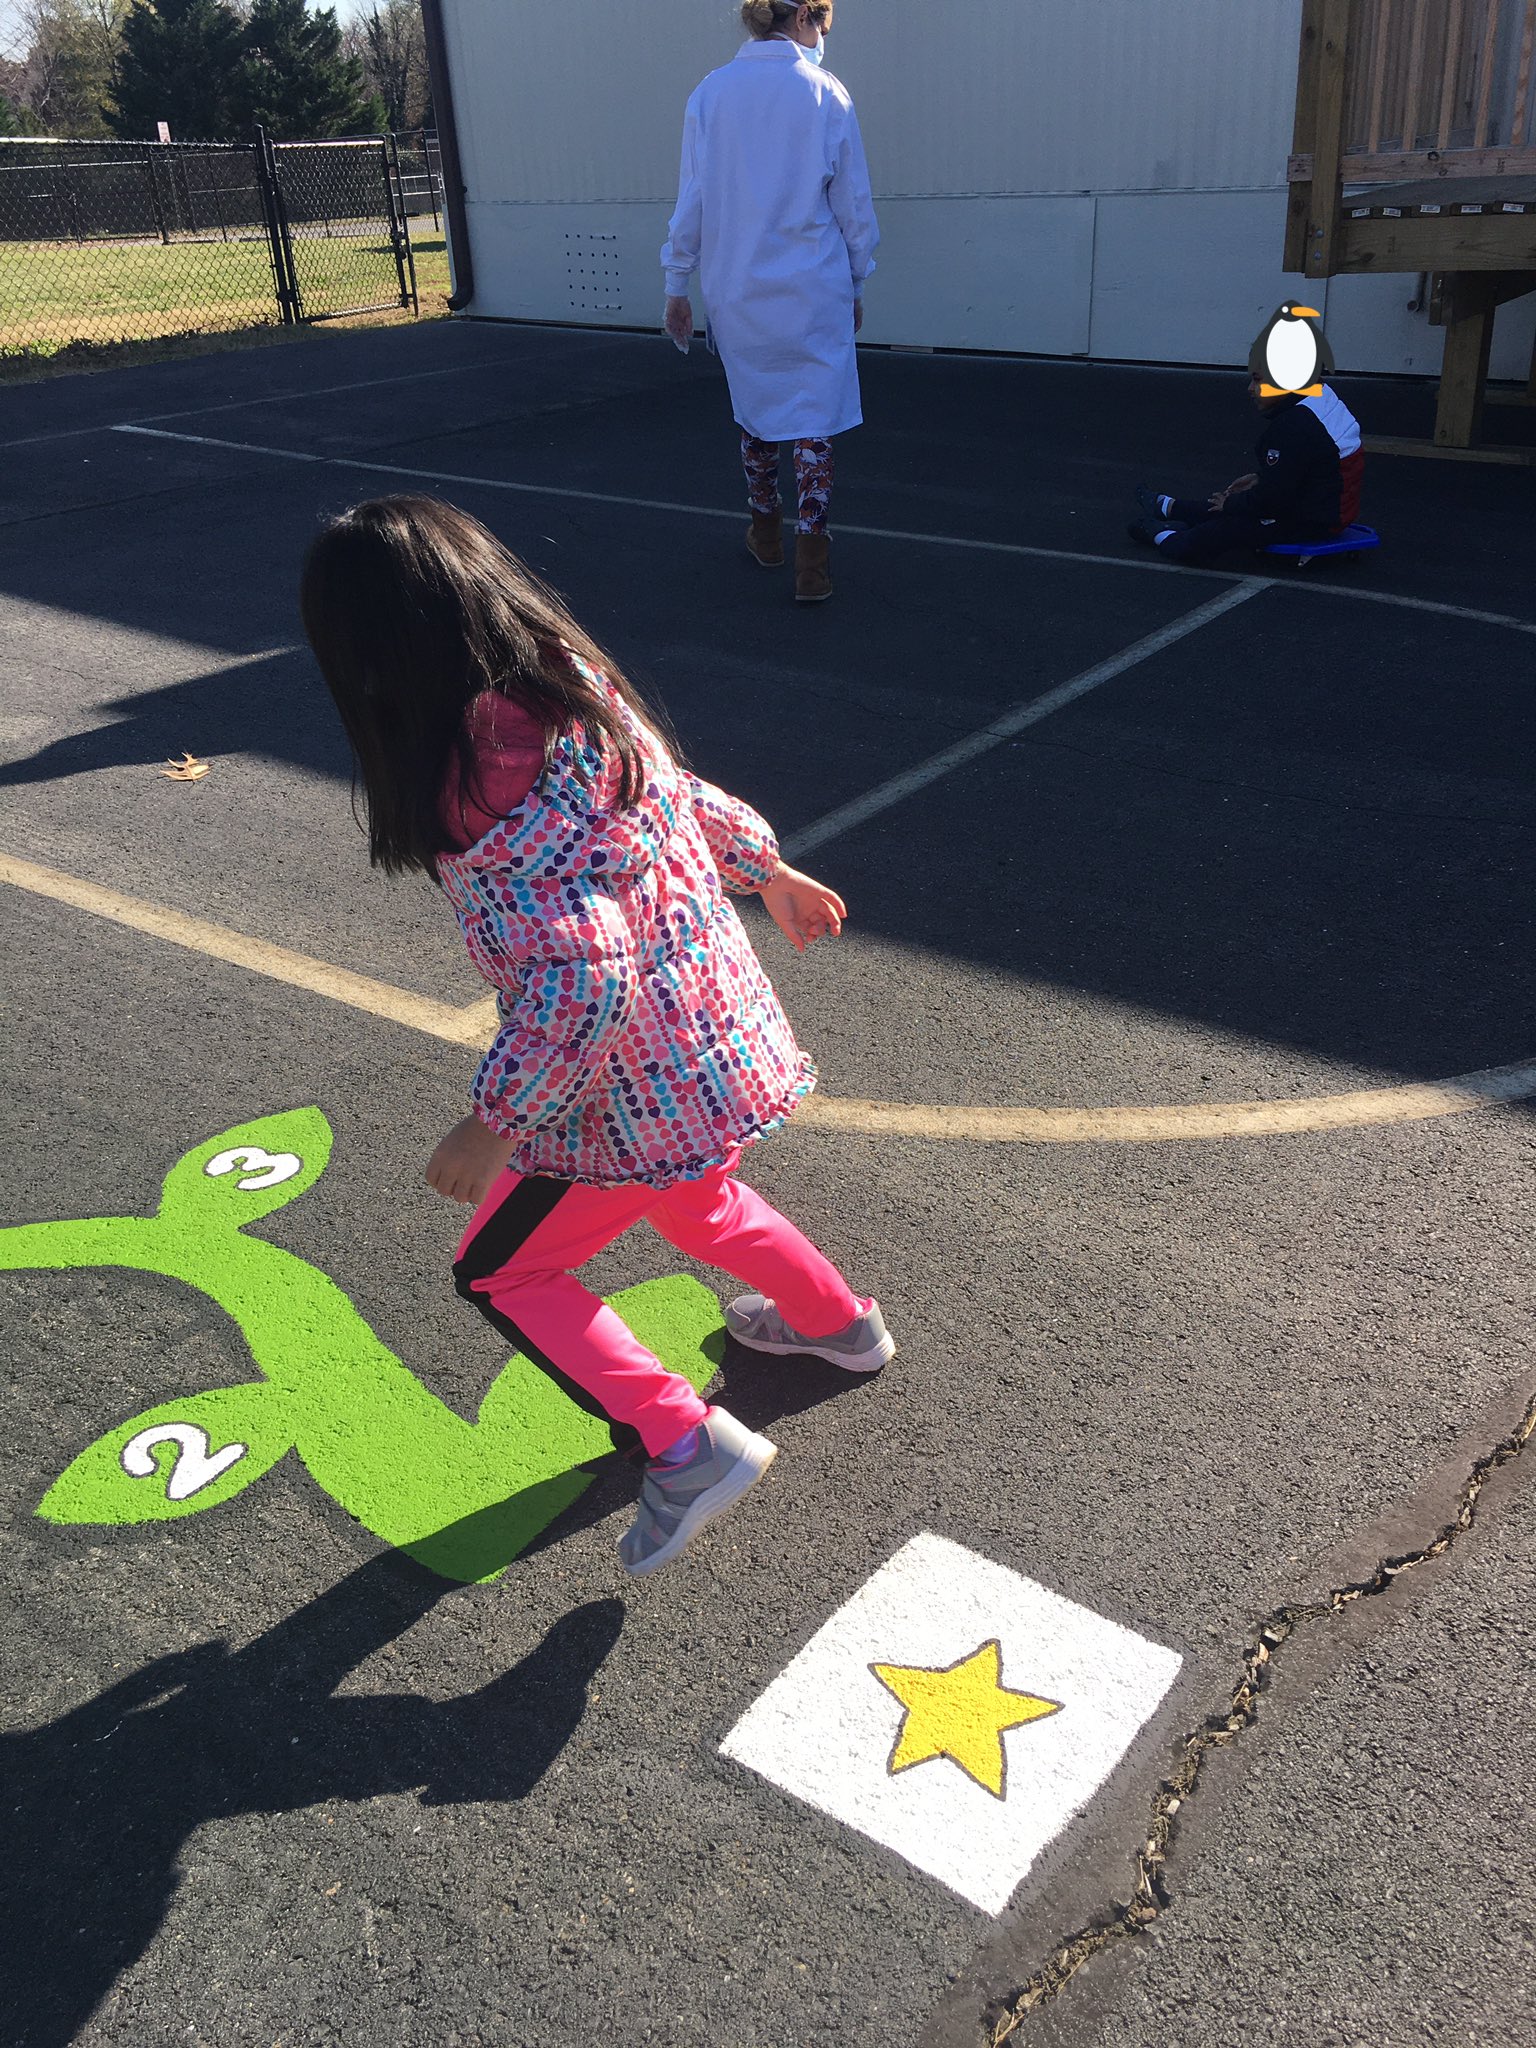
{"label": "long dark hair of the girl in pink pants", "polygon": [[571,655],[600,670],[668,745],[655,713],[559,596],[438,498],[371,498],[334,518],[309,549],[299,606],[352,741],[369,858],[391,874],[430,874],[449,850],[438,807],[455,766],[459,786],[473,788],[465,711],[481,690],[500,690],[543,725],[545,762],[580,723],[618,764],[623,805],[645,788],[645,756]]}

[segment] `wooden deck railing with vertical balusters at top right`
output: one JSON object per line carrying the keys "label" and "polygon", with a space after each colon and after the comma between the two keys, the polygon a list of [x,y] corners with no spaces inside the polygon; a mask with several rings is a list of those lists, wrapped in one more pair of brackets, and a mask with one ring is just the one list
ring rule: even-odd
{"label": "wooden deck railing with vertical balusters at top right", "polygon": [[[1536,0],[1350,0],[1335,18],[1346,184],[1536,172]],[[1292,182],[1313,176],[1309,139],[1298,121]]]}

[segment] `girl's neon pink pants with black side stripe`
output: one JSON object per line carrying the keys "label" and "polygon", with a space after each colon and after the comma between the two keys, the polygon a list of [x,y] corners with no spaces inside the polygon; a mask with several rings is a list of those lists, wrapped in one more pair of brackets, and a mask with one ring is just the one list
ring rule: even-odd
{"label": "girl's neon pink pants with black side stripe", "polygon": [[666,1190],[502,1174],[459,1245],[459,1292],[614,1423],[614,1442],[633,1432],[649,1456],[702,1421],[707,1405],[571,1274],[631,1223],[643,1217],[678,1251],[770,1294],[803,1337],[829,1337],[866,1307],[809,1237],[733,1178],[737,1157]]}

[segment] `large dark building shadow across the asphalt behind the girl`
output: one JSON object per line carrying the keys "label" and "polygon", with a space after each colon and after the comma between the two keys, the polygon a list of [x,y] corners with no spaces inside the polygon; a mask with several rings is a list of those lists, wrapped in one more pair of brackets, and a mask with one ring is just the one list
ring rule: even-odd
{"label": "large dark building shadow across the asphalt behind the girl", "polygon": [[[592,348],[608,391],[623,350]],[[526,350],[555,375],[565,342]],[[1130,557],[1137,477],[1198,489],[1245,459],[1255,426],[1237,373],[879,354],[866,373],[881,432],[850,449],[840,504],[850,522],[887,528]],[[598,492],[655,489],[666,469],[682,500],[723,502],[735,481],[717,393],[674,389],[649,367],[633,375],[643,401],[623,377],[614,385],[623,434],[594,432],[575,408],[551,414],[535,442],[522,399],[508,395],[500,422],[473,424],[473,463],[489,477],[528,471]],[[422,385],[414,399],[414,426],[446,432],[444,461],[471,432],[451,393]],[[1425,430],[1423,383],[1346,379],[1343,393],[1368,428]],[[313,436],[315,422],[303,430]],[[1530,436],[1536,422],[1505,410],[1505,432]],[[113,512],[109,528],[102,510],[90,528],[113,541],[100,588],[84,590],[76,555],[49,526],[16,549],[0,590],[199,645],[233,612],[236,637],[264,645],[252,637],[297,629],[293,588],[317,514],[375,485],[385,487],[299,469],[262,471],[250,502],[233,481],[223,494],[199,489],[166,510],[184,547],[162,580],[131,526],[139,514]],[[1219,588],[985,551],[928,557],[897,532],[848,537],[840,596],[807,621],[780,586],[770,594],[725,524],[674,530],[623,508],[442,487],[569,590],[641,680],[659,678],[700,772],[786,836]],[[1372,459],[1366,516],[1384,547],[1354,580],[1364,594],[1528,606],[1528,471]],[[844,891],[860,932],[911,954],[1382,1075],[1440,1079],[1526,1059],[1536,1004],[1528,668],[1528,635],[1507,629],[1266,592],[840,836],[813,864]],[[307,653],[125,690],[109,713],[119,723],[43,745],[0,768],[0,784],[68,784],[182,748],[348,778]],[[55,797],[66,817],[90,815],[88,788],[47,788]],[[868,1042],[889,1071],[870,1092],[899,1096],[899,1030],[874,1004]]]}

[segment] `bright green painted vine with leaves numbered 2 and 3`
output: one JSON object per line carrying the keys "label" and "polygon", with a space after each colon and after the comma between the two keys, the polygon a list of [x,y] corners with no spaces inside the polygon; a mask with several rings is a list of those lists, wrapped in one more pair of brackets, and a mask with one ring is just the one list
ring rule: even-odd
{"label": "bright green painted vine with leaves numbered 2 and 3", "polygon": [[[123,1266],[166,1274],[229,1315],[264,1378],[166,1401],[109,1430],[55,1479],[47,1522],[170,1522],[244,1493],[289,1450],[350,1516],[444,1579],[502,1573],[592,1483],[612,1448],[526,1358],[492,1382],[479,1419],[438,1401],[307,1260],[246,1225],[326,1171],[317,1108],[221,1130],[166,1174],[156,1217],[0,1229],[0,1270]],[[700,1393],[723,1350],[719,1303],[690,1276],[612,1298],[641,1343]]]}

